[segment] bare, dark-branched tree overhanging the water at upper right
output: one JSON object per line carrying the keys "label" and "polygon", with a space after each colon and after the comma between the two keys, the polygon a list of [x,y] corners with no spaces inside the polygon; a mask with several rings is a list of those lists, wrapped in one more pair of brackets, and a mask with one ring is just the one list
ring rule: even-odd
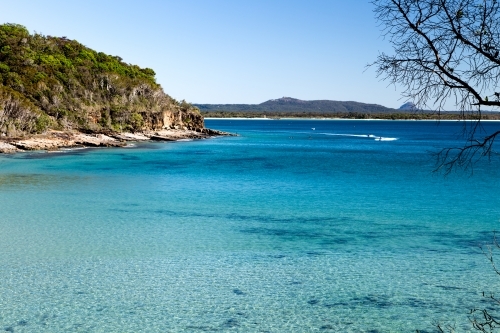
{"label": "bare, dark-branched tree overhanging the water at upper right", "polygon": [[499,0],[373,0],[383,35],[394,49],[372,64],[377,76],[402,86],[420,109],[454,103],[469,127],[462,147],[438,154],[438,168],[451,172],[491,157],[500,129],[479,130],[484,107],[500,107]]}

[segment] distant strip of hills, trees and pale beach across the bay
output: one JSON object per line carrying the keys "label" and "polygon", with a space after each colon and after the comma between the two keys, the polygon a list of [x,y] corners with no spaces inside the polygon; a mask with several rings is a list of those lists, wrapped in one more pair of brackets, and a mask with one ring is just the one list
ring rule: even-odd
{"label": "distant strip of hills, trees and pale beach across the bay", "polygon": [[[399,109],[354,101],[313,100],[292,97],[271,99],[260,104],[193,104],[207,118],[344,118],[344,119],[476,119],[458,111],[423,111],[412,102]],[[483,112],[482,119],[500,120],[498,112]]]}

